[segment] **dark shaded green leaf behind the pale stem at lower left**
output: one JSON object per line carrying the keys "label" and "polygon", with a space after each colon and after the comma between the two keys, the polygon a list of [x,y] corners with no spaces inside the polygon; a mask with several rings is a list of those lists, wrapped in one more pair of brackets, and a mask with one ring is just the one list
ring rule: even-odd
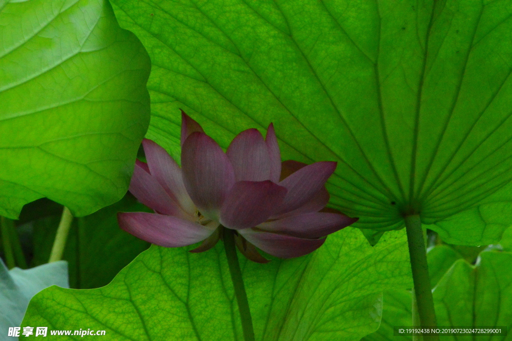
{"label": "dark shaded green leaf behind the pale stem at lower left", "polygon": [[[63,254],[69,263],[71,288],[90,289],[109,284],[122,268],[150,246],[119,228],[119,211],[151,210],[127,194],[113,205],[74,219]],[[48,262],[59,219],[60,216],[51,216],[34,222],[31,266]]]}

